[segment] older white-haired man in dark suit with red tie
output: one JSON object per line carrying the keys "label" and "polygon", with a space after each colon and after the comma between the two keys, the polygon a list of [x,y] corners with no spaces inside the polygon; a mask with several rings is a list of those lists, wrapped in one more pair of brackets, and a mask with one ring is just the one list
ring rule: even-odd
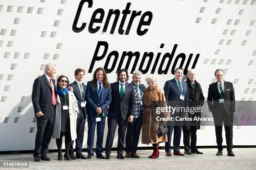
{"label": "older white-haired man in dark suit with red tie", "polygon": [[55,106],[56,106],[56,86],[53,79],[55,66],[47,64],[44,75],[35,79],[32,90],[32,103],[36,117],[36,140],[34,149],[34,160],[51,160],[47,157],[48,146],[53,133]]}

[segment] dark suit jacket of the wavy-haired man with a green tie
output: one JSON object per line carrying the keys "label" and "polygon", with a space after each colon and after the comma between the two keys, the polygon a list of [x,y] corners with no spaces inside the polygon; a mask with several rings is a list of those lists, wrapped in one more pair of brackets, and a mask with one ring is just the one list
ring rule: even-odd
{"label": "dark suit jacket of the wavy-haired man with a green tie", "polygon": [[108,118],[122,117],[123,120],[128,119],[129,115],[135,112],[135,94],[133,85],[125,83],[125,92],[123,99],[120,98],[119,81],[111,83],[112,102],[108,110]]}

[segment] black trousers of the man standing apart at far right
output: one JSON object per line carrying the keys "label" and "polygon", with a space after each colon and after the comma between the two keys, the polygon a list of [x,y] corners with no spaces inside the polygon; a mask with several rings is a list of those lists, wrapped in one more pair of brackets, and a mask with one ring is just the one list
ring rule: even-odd
{"label": "black trousers of the man standing apart at far right", "polygon": [[224,107],[222,110],[222,113],[212,113],[215,123],[216,142],[218,145],[218,150],[222,151],[222,124],[224,124],[227,150],[229,152],[233,149],[233,113],[228,114],[227,112],[224,112]]}

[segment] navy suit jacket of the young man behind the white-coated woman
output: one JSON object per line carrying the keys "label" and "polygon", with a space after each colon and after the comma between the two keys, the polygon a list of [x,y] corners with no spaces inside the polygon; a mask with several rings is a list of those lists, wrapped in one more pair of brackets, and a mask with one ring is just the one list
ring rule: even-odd
{"label": "navy suit jacket of the young man behind the white-coated woman", "polygon": [[[72,88],[74,89],[74,95],[76,96],[77,98],[77,101],[78,101],[78,108],[79,108],[79,114],[77,115],[77,117],[80,117],[81,114],[84,114],[84,119],[86,119],[86,116],[87,116],[87,111],[86,111],[86,108],[85,107],[81,107],[81,101],[82,101],[82,96],[81,96],[81,93],[80,93],[80,90],[79,90],[79,87],[77,86],[77,83],[76,81],[74,81],[73,83],[69,84],[69,86],[72,86]],[[83,90],[84,90],[84,101],[86,101],[86,90],[87,90],[87,87],[82,84],[83,86]]]}

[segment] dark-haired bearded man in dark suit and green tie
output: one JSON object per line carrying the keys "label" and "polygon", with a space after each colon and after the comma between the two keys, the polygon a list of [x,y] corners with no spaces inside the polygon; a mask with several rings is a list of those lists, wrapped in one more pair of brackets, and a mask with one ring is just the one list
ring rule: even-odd
{"label": "dark-haired bearded man in dark suit and green tie", "polygon": [[133,86],[127,83],[128,71],[121,69],[117,75],[117,82],[111,84],[112,102],[108,111],[108,136],[106,141],[106,159],[110,159],[111,147],[113,146],[115,129],[118,125],[117,158],[125,159],[123,147],[125,131],[128,122],[133,121],[135,112],[135,94]]}

